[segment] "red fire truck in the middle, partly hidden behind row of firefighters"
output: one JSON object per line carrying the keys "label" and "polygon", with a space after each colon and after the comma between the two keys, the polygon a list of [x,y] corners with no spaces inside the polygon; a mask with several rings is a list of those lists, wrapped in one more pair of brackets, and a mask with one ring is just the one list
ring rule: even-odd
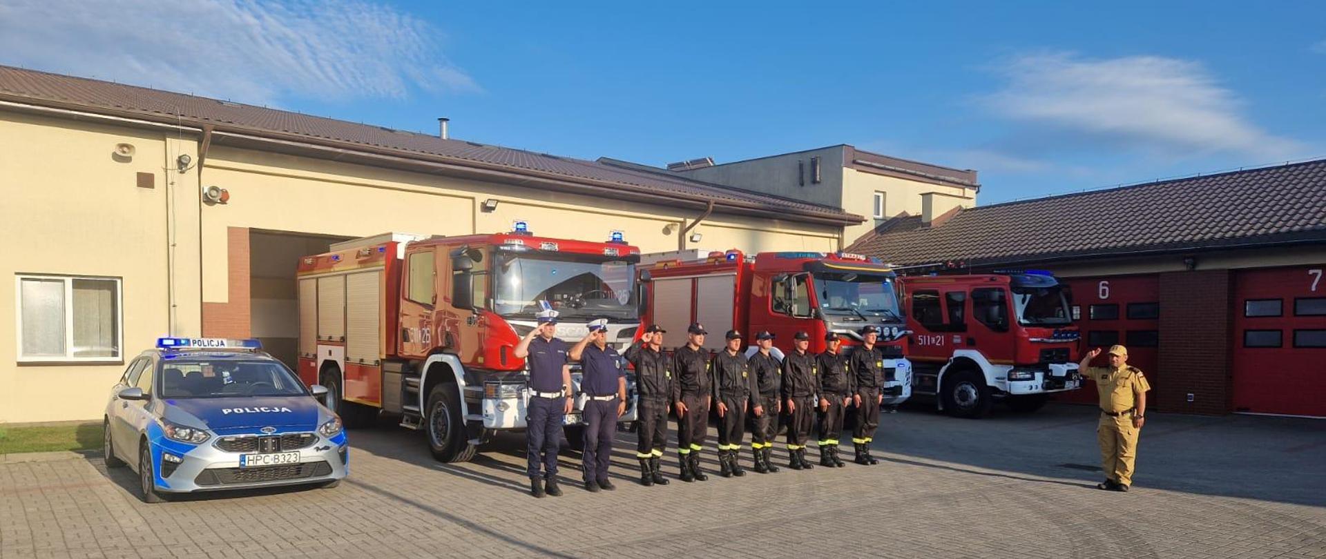
{"label": "red fire truck in the middle, partly hidden behind row of firefighters", "polygon": [[[650,257],[646,256],[646,260]],[[662,260],[640,272],[646,285],[646,322],[675,332],[667,348],[686,343],[692,322],[704,325],[704,347],[717,351],[727,330],[740,330],[753,354],[754,334],[773,332],[780,358],[792,351],[797,331],[810,334],[810,351],[825,350],[825,334],[839,332],[843,351],[859,344],[865,326],[880,330],[887,385],[884,404],[911,396],[907,326],[898,305],[896,274],[878,260],[858,254],[772,252],[753,257],[715,252],[704,260]],[[781,350],[781,351],[780,351]]]}

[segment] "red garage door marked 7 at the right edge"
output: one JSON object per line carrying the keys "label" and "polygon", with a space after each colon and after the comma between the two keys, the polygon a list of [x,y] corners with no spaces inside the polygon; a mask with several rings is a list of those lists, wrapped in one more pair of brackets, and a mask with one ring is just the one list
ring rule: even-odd
{"label": "red garage door marked 7 at the right edge", "polygon": [[1235,411],[1326,416],[1326,265],[1235,274]]}

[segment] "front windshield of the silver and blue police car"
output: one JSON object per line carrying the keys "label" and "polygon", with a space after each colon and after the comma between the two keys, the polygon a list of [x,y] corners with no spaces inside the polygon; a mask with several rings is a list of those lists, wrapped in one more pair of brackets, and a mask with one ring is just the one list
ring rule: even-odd
{"label": "front windshield of the silver and blue police car", "polygon": [[160,366],[166,399],[301,396],[304,384],[280,363],[243,360],[168,360]]}

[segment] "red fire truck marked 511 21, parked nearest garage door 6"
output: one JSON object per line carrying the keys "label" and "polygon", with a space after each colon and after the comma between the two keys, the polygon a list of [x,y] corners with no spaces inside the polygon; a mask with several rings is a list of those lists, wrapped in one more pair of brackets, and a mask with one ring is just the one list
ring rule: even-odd
{"label": "red fire truck marked 511 21, parked nearest garage door 6", "polygon": [[981,417],[996,399],[1032,412],[1081,385],[1078,330],[1048,272],[903,278],[912,389],[939,409]]}

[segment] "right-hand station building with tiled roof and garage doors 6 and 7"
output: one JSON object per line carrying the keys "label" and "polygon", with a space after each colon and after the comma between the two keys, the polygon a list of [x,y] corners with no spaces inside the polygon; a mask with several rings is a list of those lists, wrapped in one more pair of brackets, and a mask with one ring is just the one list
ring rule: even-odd
{"label": "right-hand station building with tiled roof and garage doors 6 and 7", "polygon": [[1054,272],[1085,347],[1127,346],[1156,409],[1326,416],[1326,160],[903,213],[849,250]]}

